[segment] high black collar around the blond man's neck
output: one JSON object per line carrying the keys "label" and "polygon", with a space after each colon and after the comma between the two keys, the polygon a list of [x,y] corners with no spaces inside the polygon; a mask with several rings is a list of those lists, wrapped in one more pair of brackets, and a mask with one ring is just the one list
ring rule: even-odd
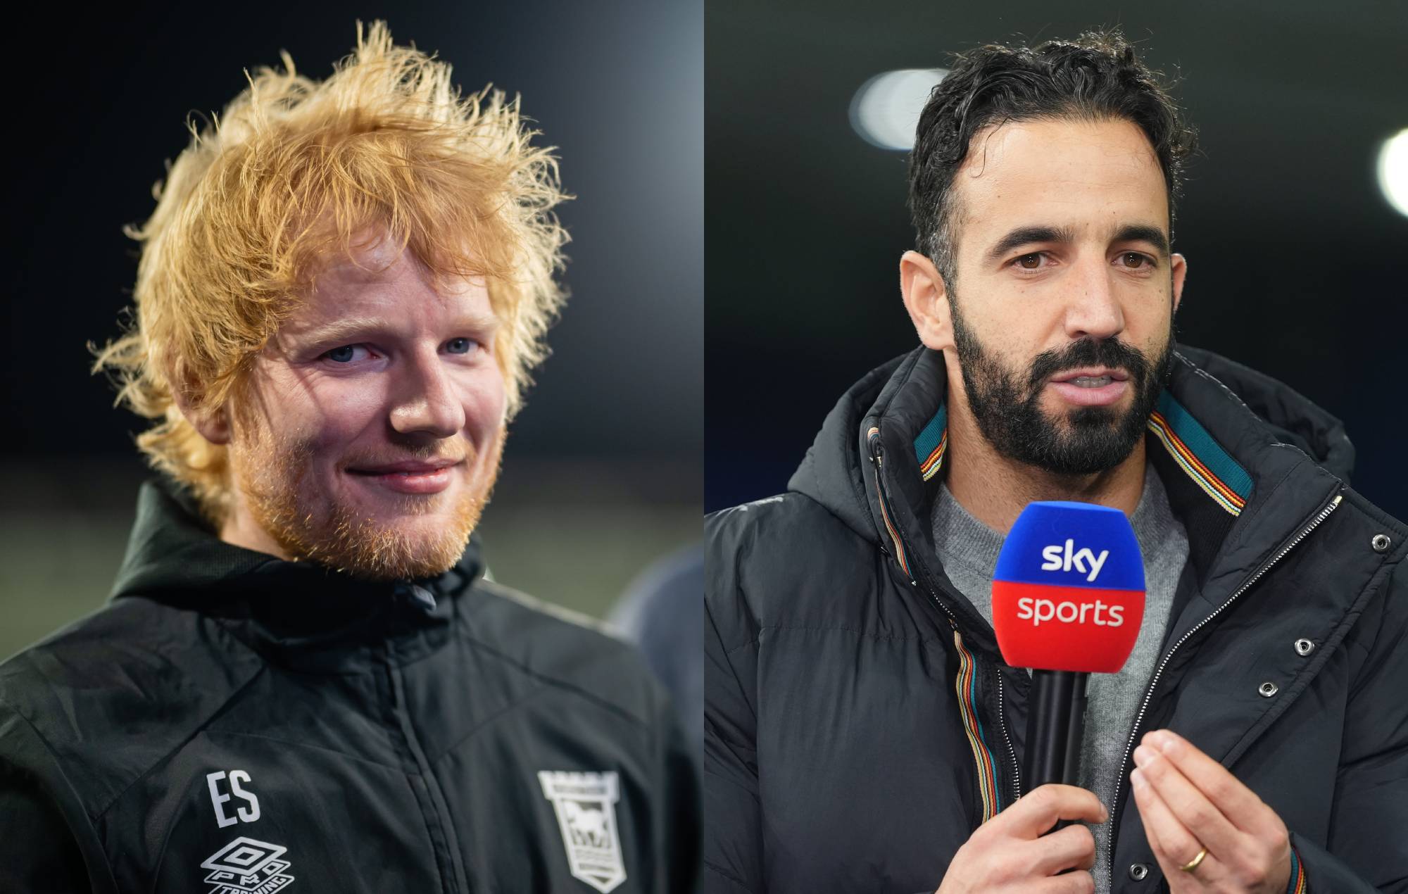
{"label": "high black collar around the blond man's neck", "polygon": [[266,657],[304,669],[404,663],[445,643],[456,601],[482,574],[477,535],[444,574],[369,581],[227,543],[184,489],[162,476],[138,493],[111,600],[142,597],[220,621]]}

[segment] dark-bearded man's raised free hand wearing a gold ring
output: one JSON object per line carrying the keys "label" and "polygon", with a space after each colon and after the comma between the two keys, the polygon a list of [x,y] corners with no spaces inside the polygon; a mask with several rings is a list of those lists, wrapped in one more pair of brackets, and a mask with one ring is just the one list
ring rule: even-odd
{"label": "dark-bearded man's raised free hand wearing a gold ring", "polygon": [[[1145,735],[1135,764],[1135,802],[1173,894],[1286,891],[1291,841],[1255,791],[1169,729]],[[1197,869],[1184,871],[1202,848]]]}

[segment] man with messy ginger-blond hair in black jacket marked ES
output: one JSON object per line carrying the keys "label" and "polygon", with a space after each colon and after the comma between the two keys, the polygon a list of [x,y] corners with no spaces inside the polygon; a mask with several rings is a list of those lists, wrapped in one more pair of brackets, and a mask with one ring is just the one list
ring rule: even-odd
{"label": "man with messy ginger-blond hair in black jacket marked ES", "polygon": [[383,23],[283,62],[130,229],[94,370],[158,476],[111,603],[0,666],[0,890],[686,890],[659,687],[472,538],[563,300],[556,159]]}

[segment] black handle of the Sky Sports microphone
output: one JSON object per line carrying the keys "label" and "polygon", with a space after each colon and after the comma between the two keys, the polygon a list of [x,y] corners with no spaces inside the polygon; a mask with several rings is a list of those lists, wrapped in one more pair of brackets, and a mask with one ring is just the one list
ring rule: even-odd
{"label": "black handle of the Sky Sports microphone", "polygon": [[[1080,780],[1080,746],[1086,735],[1086,681],[1088,673],[1032,670],[1032,695],[1026,712],[1026,753],[1022,762],[1028,791],[1046,783],[1076,786]],[[1057,821],[1049,831],[1070,825]]]}

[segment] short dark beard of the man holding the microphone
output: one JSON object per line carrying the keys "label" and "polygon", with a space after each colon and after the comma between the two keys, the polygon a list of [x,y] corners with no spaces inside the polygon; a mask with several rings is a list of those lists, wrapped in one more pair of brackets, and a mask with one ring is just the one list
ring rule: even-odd
{"label": "short dark beard of the man holding the microphone", "polygon": [[[998,453],[1062,476],[1095,474],[1129,458],[1143,438],[1149,414],[1173,369],[1171,321],[1169,341],[1153,360],[1118,339],[1081,338],[1066,351],[1038,353],[1025,386],[1019,387],[1017,376],[983,348],[963,322],[952,290],[949,307],[969,408],[979,431]],[[1135,400],[1124,414],[1110,407],[1073,410],[1066,417],[1069,431],[1062,431],[1042,413],[1042,393],[1056,373],[1083,366],[1124,369],[1129,373]]]}

